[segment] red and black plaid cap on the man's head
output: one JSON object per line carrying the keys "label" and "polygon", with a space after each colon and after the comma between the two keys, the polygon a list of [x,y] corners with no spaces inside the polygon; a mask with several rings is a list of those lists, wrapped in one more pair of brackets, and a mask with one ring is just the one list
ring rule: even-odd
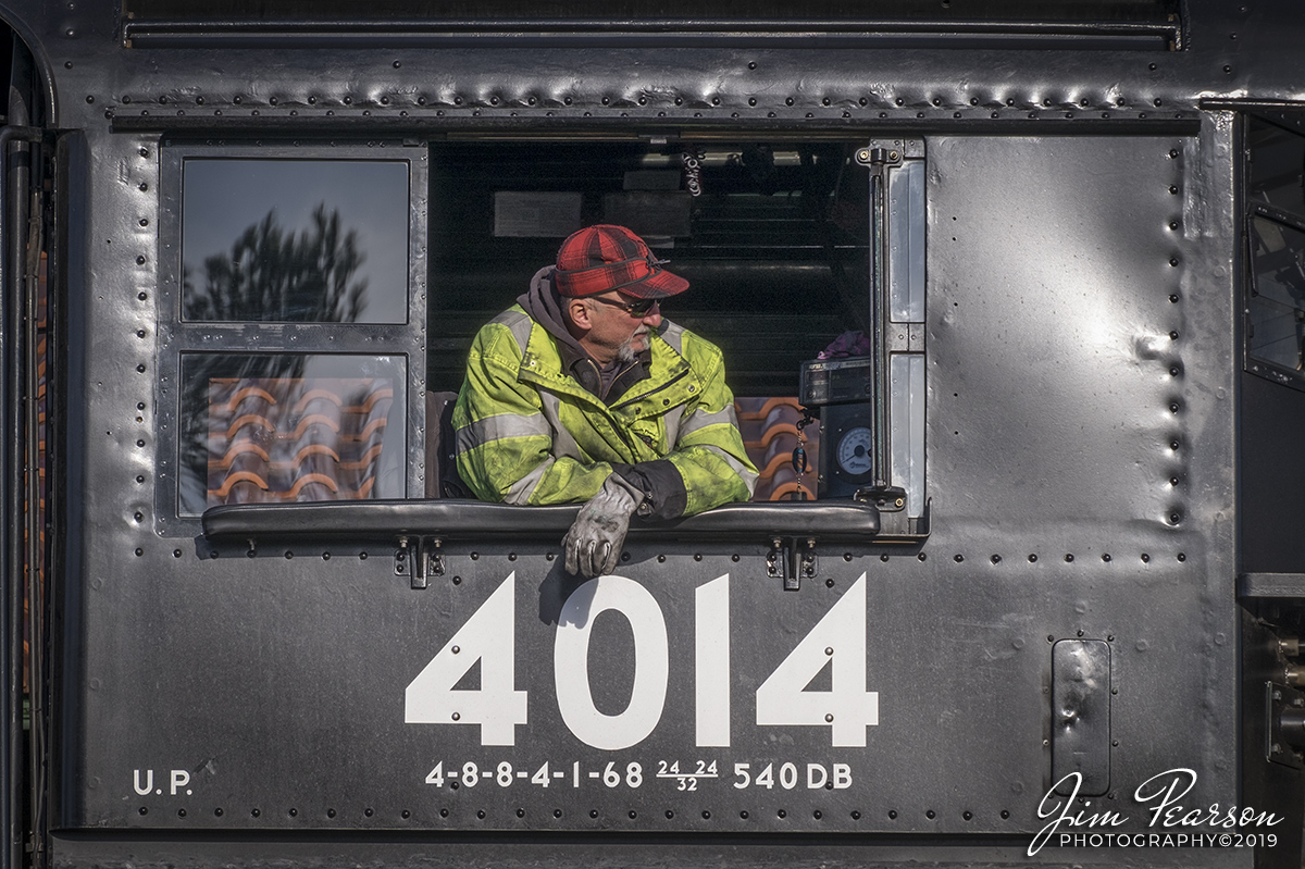
{"label": "red and black plaid cap on the man's head", "polygon": [[637,299],[664,299],[689,288],[688,281],[660,266],[643,239],[624,226],[599,223],[562,241],[553,286],[564,296],[620,290]]}

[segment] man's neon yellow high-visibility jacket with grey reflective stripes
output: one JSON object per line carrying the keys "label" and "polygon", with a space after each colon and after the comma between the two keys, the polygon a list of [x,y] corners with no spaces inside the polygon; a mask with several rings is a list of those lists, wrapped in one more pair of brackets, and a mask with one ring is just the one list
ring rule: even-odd
{"label": "man's neon yellow high-visibility jacket with grey reflective stripes", "polygon": [[615,465],[668,459],[693,515],[752,497],[720,350],[663,321],[649,377],[611,406],[562,369],[556,339],[513,305],[476,334],[453,411],[458,474],[483,501],[586,501]]}

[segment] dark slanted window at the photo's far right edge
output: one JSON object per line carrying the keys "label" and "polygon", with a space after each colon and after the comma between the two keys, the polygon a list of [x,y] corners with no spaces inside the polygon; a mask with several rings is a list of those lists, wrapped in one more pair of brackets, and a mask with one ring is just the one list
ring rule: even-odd
{"label": "dark slanted window at the photo's far right edge", "polygon": [[1255,217],[1251,248],[1250,355],[1300,371],[1305,337],[1305,232]]}

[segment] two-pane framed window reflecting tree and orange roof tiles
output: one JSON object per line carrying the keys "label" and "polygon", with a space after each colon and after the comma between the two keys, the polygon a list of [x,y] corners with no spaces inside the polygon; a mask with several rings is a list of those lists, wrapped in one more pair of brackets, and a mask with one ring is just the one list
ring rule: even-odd
{"label": "two-pane framed window reflecting tree and orange roof tiles", "polygon": [[425,151],[163,157],[161,515],[420,492]]}

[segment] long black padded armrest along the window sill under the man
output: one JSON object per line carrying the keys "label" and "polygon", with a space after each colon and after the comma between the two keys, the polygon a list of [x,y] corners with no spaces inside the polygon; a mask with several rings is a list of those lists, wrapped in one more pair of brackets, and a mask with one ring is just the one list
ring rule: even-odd
{"label": "long black padded armrest along the window sill under the man", "polygon": [[[210,508],[202,527],[210,540],[419,536],[556,541],[578,510],[579,505],[523,508],[450,498],[230,504]],[[672,540],[778,536],[868,541],[878,531],[878,510],[850,500],[729,504],[673,522],[630,523],[630,538]]]}

